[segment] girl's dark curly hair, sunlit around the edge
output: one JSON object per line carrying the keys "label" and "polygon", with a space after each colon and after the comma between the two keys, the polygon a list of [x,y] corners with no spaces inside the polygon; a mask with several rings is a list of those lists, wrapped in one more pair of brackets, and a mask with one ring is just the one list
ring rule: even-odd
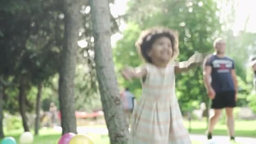
{"label": "girl's dark curly hair, sunlit around the edge", "polygon": [[172,59],[175,59],[179,55],[179,40],[178,32],[165,28],[165,27],[153,27],[141,32],[141,35],[135,46],[137,51],[144,58],[145,61],[152,63],[152,59],[148,56],[148,52],[151,50],[153,43],[160,37],[168,37],[171,40],[172,46]]}

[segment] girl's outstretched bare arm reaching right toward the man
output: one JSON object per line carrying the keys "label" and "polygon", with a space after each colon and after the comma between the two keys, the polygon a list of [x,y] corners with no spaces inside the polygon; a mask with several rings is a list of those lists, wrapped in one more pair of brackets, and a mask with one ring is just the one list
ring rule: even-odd
{"label": "girl's outstretched bare arm reaching right toward the man", "polygon": [[174,67],[175,74],[186,72],[189,69],[200,66],[203,63],[203,59],[205,58],[205,56],[205,54],[196,53],[192,55],[187,61],[177,61]]}

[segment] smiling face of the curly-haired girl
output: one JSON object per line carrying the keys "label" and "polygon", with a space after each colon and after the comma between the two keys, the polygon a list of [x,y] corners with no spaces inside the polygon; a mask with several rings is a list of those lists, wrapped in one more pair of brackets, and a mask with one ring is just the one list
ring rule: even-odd
{"label": "smiling face of the curly-haired girl", "polygon": [[152,59],[152,63],[164,67],[172,57],[171,40],[168,37],[160,37],[152,45],[148,55]]}

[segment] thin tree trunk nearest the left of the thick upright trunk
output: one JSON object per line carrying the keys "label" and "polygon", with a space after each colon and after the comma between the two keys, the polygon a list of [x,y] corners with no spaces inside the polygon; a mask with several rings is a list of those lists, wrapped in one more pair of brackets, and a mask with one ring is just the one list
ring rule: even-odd
{"label": "thin tree trunk nearest the left of the thick upright trunk", "polygon": [[37,102],[36,102],[36,118],[35,118],[35,135],[38,135],[40,128],[40,107],[41,107],[41,93],[42,93],[42,84],[40,83],[37,86]]}

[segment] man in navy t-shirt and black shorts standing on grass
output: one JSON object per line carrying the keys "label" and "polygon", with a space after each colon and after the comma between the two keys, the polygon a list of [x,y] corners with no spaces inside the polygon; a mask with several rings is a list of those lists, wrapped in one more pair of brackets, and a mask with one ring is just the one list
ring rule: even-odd
{"label": "man in navy t-shirt and black shorts standing on grass", "polygon": [[225,108],[230,139],[235,141],[233,108],[236,105],[238,88],[235,63],[225,56],[224,40],[216,39],[213,48],[215,53],[206,57],[203,64],[203,80],[209,98],[212,99],[211,108],[214,109],[214,115],[209,119],[208,139],[212,139],[213,128]]}

